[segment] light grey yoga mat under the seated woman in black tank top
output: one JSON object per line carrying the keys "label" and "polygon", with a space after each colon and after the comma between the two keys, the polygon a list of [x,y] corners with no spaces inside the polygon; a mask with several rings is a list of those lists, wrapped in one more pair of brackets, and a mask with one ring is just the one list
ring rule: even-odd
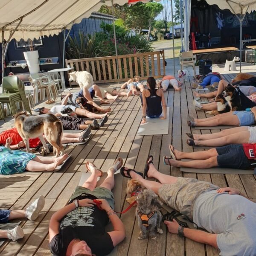
{"label": "light grey yoga mat under the seated woman in black tank top", "polygon": [[160,118],[146,118],[147,122],[140,125],[137,135],[156,135],[156,134],[168,134],[169,130],[169,112],[170,108],[167,108],[166,119]]}

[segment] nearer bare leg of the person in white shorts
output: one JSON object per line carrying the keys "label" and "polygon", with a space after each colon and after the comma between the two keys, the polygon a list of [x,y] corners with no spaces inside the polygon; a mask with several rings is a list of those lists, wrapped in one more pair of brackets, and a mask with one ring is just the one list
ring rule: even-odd
{"label": "nearer bare leg of the person in white shorts", "polygon": [[[239,128],[239,127],[238,127]],[[212,140],[195,140],[195,145],[197,146],[211,146],[220,147],[229,144],[242,144],[248,143],[250,138],[250,131],[241,131],[235,134],[229,134],[225,137]]]}

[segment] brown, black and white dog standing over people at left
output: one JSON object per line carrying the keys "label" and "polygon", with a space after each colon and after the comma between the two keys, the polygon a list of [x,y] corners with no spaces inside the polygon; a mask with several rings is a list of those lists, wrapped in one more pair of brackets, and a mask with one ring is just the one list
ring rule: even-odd
{"label": "brown, black and white dog standing over people at left", "polygon": [[49,148],[44,140],[43,134],[47,141],[53,146],[55,157],[64,154],[64,148],[61,144],[62,124],[59,119],[52,114],[39,116],[29,116],[26,111],[17,113],[14,116],[15,127],[20,137],[22,137],[26,151],[30,152],[29,138],[39,138],[45,150],[49,154]]}

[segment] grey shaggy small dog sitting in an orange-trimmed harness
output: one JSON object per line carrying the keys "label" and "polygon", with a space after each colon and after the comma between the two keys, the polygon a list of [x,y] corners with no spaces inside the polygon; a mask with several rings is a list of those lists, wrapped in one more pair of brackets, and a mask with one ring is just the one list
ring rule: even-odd
{"label": "grey shaggy small dog sitting in an orange-trimmed harness", "polygon": [[[143,189],[137,198],[136,216],[138,219],[138,225],[140,227],[140,236],[138,239],[145,239],[148,237],[151,239],[157,239],[157,233],[163,234],[163,230],[160,228],[162,221],[162,215],[160,208],[162,207],[161,201],[158,196],[151,189]],[[143,225],[143,221],[140,218],[139,213],[150,216],[148,219],[148,226]]]}

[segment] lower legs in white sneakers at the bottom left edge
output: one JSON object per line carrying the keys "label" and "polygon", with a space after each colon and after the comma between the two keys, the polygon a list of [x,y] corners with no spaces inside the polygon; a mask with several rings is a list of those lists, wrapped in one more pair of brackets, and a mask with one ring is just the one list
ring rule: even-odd
{"label": "lower legs in white sneakers at the bottom left edge", "polygon": [[[31,221],[35,221],[38,218],[41,210],[44,208],[44,196],[41,195],[36,199],[29,207],[23,210],[6,210],[0,209],[0,223],[7,223],[14,219],[27,218]],[[16,241],[24,237],[23,230],[20,226],[17,226],[11,230],[0,229],[0,238],[12,239]]]}

